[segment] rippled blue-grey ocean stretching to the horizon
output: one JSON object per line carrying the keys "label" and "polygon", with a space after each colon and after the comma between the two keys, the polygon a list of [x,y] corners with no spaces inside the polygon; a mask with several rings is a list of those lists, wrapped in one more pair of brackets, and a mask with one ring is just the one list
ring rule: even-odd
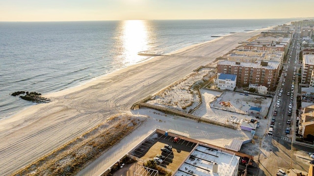
{"label": "rippled blue-grey ocean stretching to the horizon", "polygon": [[[49,94],[230,32],[295,19],[0,22],[0,119],[35,103],[16,91]],[[222,53],[223,55],[224,53]]]}

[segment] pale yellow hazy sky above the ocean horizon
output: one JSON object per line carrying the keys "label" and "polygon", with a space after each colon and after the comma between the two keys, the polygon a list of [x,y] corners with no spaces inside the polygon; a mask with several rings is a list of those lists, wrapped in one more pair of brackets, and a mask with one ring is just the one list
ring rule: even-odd
{"label": "pale yellow hazy sky above the ocean horizon", "polygon": [[314,0],[0,0],[0,21],[314,17]]}

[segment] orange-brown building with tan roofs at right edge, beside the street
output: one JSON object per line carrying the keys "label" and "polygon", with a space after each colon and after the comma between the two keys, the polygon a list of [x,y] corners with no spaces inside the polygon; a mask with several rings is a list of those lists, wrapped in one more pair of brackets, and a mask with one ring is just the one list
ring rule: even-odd
{"label": "orange-brown building with tan roofs at right edge, beside the street", "polygon": [[[304,108],[301,114],[298,126],[298,134],[303,136],[306,140],[310,135],[314,136],[314,105],[310,105]],[[311,138],[311,137],[310,137]]]}

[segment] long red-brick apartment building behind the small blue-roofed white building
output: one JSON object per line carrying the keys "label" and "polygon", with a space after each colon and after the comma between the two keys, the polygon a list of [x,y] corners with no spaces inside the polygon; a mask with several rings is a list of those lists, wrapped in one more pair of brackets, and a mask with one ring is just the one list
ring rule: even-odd
{"label": "long red-brick apartment building behind the small blue-roofed white building", "polygon": [[217,64],[217,73],[236,75],[236,86],[248,87],[257,84],[275,89],[280,63],[276,61],[256,61],[254,63],[222,61]]}

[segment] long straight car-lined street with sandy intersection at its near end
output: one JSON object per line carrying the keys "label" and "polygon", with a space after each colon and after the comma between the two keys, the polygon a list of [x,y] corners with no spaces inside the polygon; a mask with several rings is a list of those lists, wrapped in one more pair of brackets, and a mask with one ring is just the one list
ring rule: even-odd
{"label": "long straight car-lined street with sandy intersection at its near end", "polygon": [[[298,75],[295,75],[295,87],[293,94],[293,106],[292,106],[292,114],[288,116],[288,105],[290,103],[290,96],[287,95],[287,92],[291,92],[291,83],[294,67],[296,67],[296,74],[298,74],[298,70],[300,69],[299,64],[299,46],[297,45],[297,39],[300,37],[300,33],[296,33],[292,42],[294,47],[288,51],[287,54],[287,62],[284,64],[284,69],[282,72],[282,76],[280,77],[280,81],[278,84],[278,88],[275,95],[275,100],[273,101],[273,106],[271,106],[270,110],[277,109],[278,114],[275,117],[274,131],[273,135],[265,135],[262,146],[261,146],[261,154],[260,154],[260,172],[259,176],[264,175],[276,175],[278,169],[283,169],[287,171],[289,169],[308,172],[309,170],[309,161],[311,158],[309,157],[309,153],[313,152],[314,149],[311,147],[293,144],[292,143],[292,152],[291,152],[291,137],[295,139],[295,124],[296,124],[296,97],[298,91]],[[291,43],[292,46],[292,43]],[[290,63],[288,64],[289,55],[291,54]],[[296,60],[296,63],[295,63]],[[286,68],[288,66],[288,72],[286,72]],[[285,77],[284,74],[287,73]],[[282,85],[283,78],[286,78],[285,84]],[[278,93],[283,88],[282,96],[278,96]],[[280,107],[276,107],[276,101],[281,99]],[[272,114],[272,113],[271,113]],[[291,120],[291,125],[287,124],[287,121]],[[290,133],[287,135],[285,129],[289,127],[292,129]],[[292,159],[291,159],[292,158]],[[292,161],[292,162],[291,162]]]}

